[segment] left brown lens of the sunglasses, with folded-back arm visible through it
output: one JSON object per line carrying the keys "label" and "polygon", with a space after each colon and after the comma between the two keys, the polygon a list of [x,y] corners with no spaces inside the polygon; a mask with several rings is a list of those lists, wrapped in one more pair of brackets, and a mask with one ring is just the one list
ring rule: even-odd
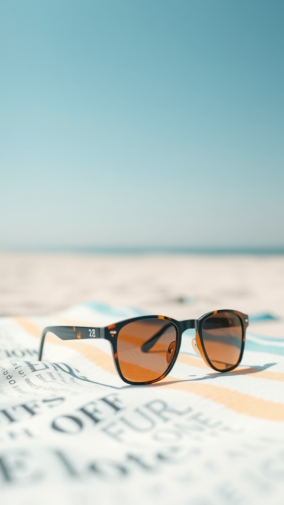
{"label": "left brown lens of the sunglasses, with folded-back arm visible through it", "polygon": [[175,326],[164,319],[140,319],[118,333],[117,357],[125,379],[150,382],[168,369],[176,350]]}

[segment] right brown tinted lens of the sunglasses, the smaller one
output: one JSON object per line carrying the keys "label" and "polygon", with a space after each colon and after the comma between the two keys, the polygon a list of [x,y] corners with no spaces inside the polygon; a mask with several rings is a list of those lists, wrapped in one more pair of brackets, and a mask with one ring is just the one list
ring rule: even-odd
{"label": "right brown tinted lens of the sunglasses, the smaller one", "polygon": [[202,338],[207,356],[218,370],[236,365],[240,359],[243,328],[239,316],[217,312],[202,325]]}

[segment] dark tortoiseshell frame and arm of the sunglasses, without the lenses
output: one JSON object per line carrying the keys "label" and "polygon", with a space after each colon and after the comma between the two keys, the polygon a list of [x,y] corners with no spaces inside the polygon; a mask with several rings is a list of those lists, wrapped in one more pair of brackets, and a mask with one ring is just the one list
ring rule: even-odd
{"label": "dark tortoiseshell frame and arm of the sunglasses, without the lenses", "polygon": [[[219,370],[216,368],[214,365],[212,365],[211,361],[208,358],[204,342],[203,342],[203,337],[202,337],[202,325],[206,319],[208,319],[210,316],[213,316],[214,314],[218,314],[220,312],[227,312],[230,314],[235,314],[236,316],[239,317],[241,324],[242,324],[242,347],[240,350],[240,358],[238,362],[233,365],[230,368],[227,368],[225,370]],[[132,382],[128,379],[126,379],[120,370],[119,366],[119,360],[117,356],[117,339],[118,339],[118,334],[121,328],[123,328],[125,325],[135,322],[135,321],[141,321],[143,319],[164,319],[166,321],[169,321],[175,329],[176,329],[176,346],[174,350],[174,356],[165,371],[164,374],[162,374],[160,377],[157,379],[151,380],[151,381],[143,381],[143,382]],[[189,329],[195,329],[196,330],[196,344],[197,344],[197,352],[199,351],[198,354],[201,355],[203,360],[209,367],[213,368],[217,372],[229,372],[231,370],[234,370],[236,367],[238,367],[242,361],[243,354],[244,354],[244,347],[245,347],[245,339],[246,339],[246,329],[249,324],[249,317],[246,314],[243,314],[242,312],[239,311],[233,311],[233,310],[228,310],[228,309],[220,309],[218,311],[213,311],[213,312],[207,312],[203,316],[201,316],[199,319],[188,319],[185,321],[176,321],[175,319],[172,319],[170,317],[166,316],[139,316],[131,319],[125,319],[124,321],[119,321],[118,323],[111,324],[110,326],[106,326],[104,328],[93,328],[93,327],[84,327],[84,326],[48,326],[44,328],[42,331],[41,335],[41,340],[40,340],[40,347],[39,347],[39,353],[38,353],[38,360],[41,361],[42,358],[42,350],[43,350],[43,344],[44,344],[44,339],[45,335],[48,332],[54,333],[56,336],[61,338],[62,340],[77,340],[77,339],[86,339],[86,338],[103,338],[105,340],[108,340],[111,344],[112,348],[112,355],[113,355],[113,360],[115,364],[116,371],[118,375],[121,377],[121,379],[126,382],[127,384],[136,384],[136,385],[142,385],[142,384],[152,384],[154,382],[158,382],[162,380],[164,377],[168,375],[168,373],[171,371],[173,368],[178,353],[181,345],[181,337],[182,333],[186,330]],[[145,344],[144,344],[145,345]],[[151,344],[150,344],[151,347]],[[149,347],[149,348],[150,348]],[[147,351],[147,349],[146,349]]]}

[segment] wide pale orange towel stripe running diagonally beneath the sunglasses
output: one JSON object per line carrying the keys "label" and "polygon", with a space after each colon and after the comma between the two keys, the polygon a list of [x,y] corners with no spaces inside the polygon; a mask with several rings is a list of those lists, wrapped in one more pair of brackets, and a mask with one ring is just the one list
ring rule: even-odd
{"label": "wide pale orange towel stripe running diagonally beneath the sunglasses", "polygon": [[[15,318],[15,321],[28,333],[37,338],[39,337],[40,329],[34,323],[24,318]],[[52,342],[56,345],[63,345],[75,349],[88,360],[92,361],[96,365],[99,365],[104,370],[116,375],[114,365],[112,364],[112,366],[110,366],[109,355],[98,347],[89,346],[84,344],[82,341],[79,345],[77,341],[62,341],[55,336],[53,336]],[[190,358],[190,360],[195,360],[195,358]],[[196,361],[199,363],[198,359],[196,359]],[[255,375],[258,375],[258,373]],[[176,380],[177,379],[174,377],[167,376],[163,379],[163,383],[170,389],[188,391],[203,398],[215,401],[216,403],[219,403],[234,412],[238,412],[239,414],[246,414],[247,416],[268,419],[270,421],[284,421],[283,403],[255,398],[254,396],[246,393],[232,391],[231,389],[224,387],[213,386],[212,384],[198,384],[193,381],[177,381],[174,384],[171,383],[171,381]],[[160,385],[162,385],[162,382]]]}

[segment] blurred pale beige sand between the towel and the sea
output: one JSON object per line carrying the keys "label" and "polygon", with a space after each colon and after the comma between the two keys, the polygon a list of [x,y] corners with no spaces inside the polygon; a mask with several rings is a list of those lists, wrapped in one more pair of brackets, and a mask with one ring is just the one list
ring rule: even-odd
{"label": "blurred pale beige sand between the towel and the sea", "polygon": [[278,321],[251,331],[284,338],[283,256],[0,254],[0,315],[45,315],[85,300],[176,319],[215,309]]}

